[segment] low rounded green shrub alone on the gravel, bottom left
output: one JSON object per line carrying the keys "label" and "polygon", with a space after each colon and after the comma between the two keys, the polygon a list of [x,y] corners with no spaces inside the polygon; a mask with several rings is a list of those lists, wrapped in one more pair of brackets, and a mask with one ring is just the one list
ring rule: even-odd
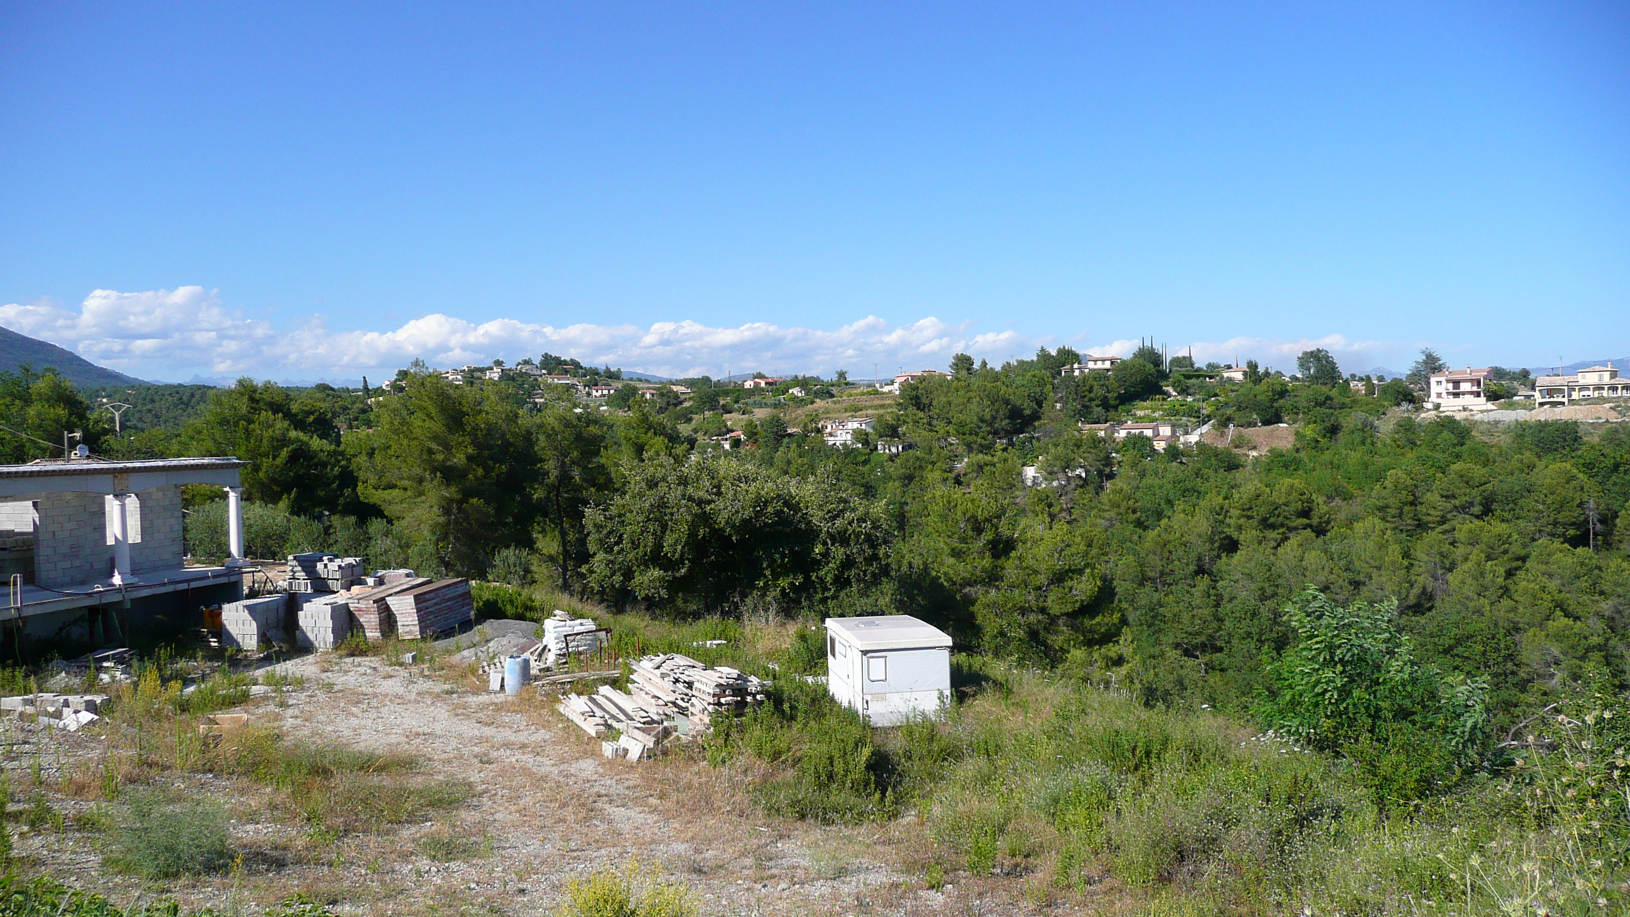
{"label": "low rounded green shrub alone on the gravel, bottom left", "polygon": [[215,873],[231,860],[227,813],[218,803],[158,790],[127,793],[109,840],[106,865],[143,878]]}

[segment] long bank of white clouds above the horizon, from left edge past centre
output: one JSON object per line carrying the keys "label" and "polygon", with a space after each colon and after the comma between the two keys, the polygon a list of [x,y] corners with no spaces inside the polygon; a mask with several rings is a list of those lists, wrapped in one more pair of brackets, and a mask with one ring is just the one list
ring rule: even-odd
{"label": "long bank of white clouds above the horizon, from left edge past centre", "polygon": [[971,323],[923,318],[890,325],[875,315],[826,331],[750,321],[716,328],[698,321],[533,325],[513,318],[474,323],[425,315],[390,331],[329,331],[321,317],[287,331],[225,308],[214,290],[178,287],[122,294],[95,290],[78,310],[39,302],[0,305],[0,325],[60,344],[95,362],[145,379],[249,374],[354,379],[390,374],[414,359],[461,365],[543,351],[659,375],[831,372],[864,377],[898,367],[944,367],[954,352],[991,362],[1033,352],[1040,338],[973,333]]}

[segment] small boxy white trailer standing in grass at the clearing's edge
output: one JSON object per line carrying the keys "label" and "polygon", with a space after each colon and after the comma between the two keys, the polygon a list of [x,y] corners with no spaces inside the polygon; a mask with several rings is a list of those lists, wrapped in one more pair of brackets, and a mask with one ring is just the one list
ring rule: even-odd
{"label": "small boxy white trailer standing in grass at the clearing's edge", "polygon": [[874,726],[950,705],[950,636],[911,615],[826,618],[826,690]]}

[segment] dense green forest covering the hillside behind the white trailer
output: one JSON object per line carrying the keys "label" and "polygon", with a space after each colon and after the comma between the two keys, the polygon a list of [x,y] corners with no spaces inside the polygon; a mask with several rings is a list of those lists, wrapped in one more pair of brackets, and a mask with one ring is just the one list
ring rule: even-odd
{"label": "dense green forest covering the hillside behind the white trailer", "polygon": [[[636,392],[603,411],[564,387],[427,372],[372,401],[240,382],[178,426],[93,439],[251,460],[258,556],[355,553],[668,622],[913,614],[963,653],[1273,728],[1346,762],[1382,811],[1509,778],[1557,747],[1535,716],[1627,687],[1630,424],[1418,414],[1407,383],[1317,383],[1317,359],[1239,383],[1157,352],[1060,375],[1076,359],[958,356],[905,385],[861,449],[786,421],[841,413],[838,380],[813,398]],[[0,392],[42,439],[85,416],[49,375]],[[1240,432],[1162,452],[1082,427],[1141,418]],[[1294,447],[1247,457],[1249,427],[1280,423]],[[722,426],[748,447],[720,449]],[[225,550],[218,503],[191,507],[189,538]]]}

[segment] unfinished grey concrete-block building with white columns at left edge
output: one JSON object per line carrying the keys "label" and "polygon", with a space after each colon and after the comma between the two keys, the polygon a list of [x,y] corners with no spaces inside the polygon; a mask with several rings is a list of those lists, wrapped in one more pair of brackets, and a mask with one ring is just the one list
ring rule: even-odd
{"label": "unfinished grey concrete-block building with white columns at left edge", "polygon": [[[0,465],[5,658],[42,645],[142,645],[197,627],[200,605],[243,596],[236,458]],[[189,566],[181,488],[227,491],[231,560]],[[147,638],[147,640],[143,640]]]}

